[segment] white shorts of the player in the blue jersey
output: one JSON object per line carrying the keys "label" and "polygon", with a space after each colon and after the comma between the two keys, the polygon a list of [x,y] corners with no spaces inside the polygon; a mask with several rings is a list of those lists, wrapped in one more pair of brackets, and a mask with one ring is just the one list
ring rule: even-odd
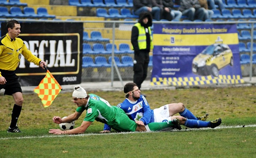
{"label": "white shorts of the player in the blue jersey", "polygon": [[154,122],[167,122],[167,121],[171,121],[168,104],[160,108],[154,109]]}

